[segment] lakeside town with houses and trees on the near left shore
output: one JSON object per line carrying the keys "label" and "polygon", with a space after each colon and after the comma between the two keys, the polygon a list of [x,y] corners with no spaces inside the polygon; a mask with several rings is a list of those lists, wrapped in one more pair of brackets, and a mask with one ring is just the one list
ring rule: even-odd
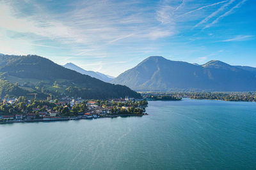
{"label": "lakeside town with houses and trees on the near left shore", "polygon": [[26,99],[24,96],[3,99],[0,103],[0,124],[14,122],[43,122],[61,120],[80,120],[92,118],[141,117],[147,115],[148,102],[129,98],[103,100],[84,100],[62,97],[52,100]]}

